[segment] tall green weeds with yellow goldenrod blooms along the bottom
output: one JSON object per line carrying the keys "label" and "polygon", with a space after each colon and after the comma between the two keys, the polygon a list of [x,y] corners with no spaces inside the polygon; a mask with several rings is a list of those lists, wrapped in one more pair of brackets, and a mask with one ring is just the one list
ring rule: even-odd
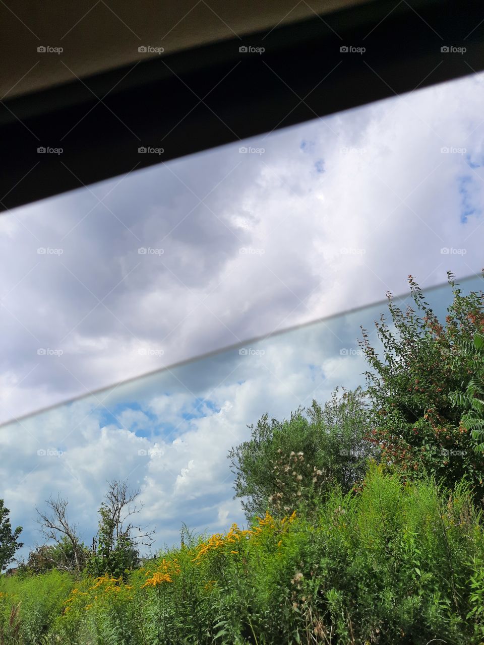
{"label": "tall green weeds with yellow goldenrod blooms along the bottom", "polygon": [[450,494],[374,466],[357,494],[192,540],[125,582],[2,579],[0,643],[479,645],[483,564],[465,484]]}

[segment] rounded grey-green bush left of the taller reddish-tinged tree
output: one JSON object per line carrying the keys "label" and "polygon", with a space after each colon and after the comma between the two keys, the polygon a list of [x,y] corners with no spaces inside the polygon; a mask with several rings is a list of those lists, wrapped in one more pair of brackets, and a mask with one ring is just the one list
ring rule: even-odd
{"label": "rounded grey-green bush left of the taller reddish-tinged tree", "polygon": [[364,439],[367,417],[361,388],[341,393],[336,388],[324,406],[313,400],[289,420],[269,421],[266,413],[255,428],[248,426],[250,440],[228,453],[235,497],[243,500],[247,517],[268,509],[287,512],[291,497],[320,496],[330,480],[350,490],[363,477],[369,452],[376,452]]}

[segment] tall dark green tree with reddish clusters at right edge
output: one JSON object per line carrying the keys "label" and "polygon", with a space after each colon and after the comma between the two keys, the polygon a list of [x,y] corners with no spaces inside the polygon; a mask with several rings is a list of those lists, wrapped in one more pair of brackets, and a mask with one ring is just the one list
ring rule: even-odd
{"label": "tall dark green tree with reddish clusters at right edge", "polygon": [[368,439],[381,448],[383,461],[407,477],[427,473],[449,486],[465,477],[481,499],[484,354],[474,339],[484,331],[484,296],[463,295],[454,275],[447,275],[453,301],[445,323],[410,275],[416,307],[404,312],[387,294],[393,329],[385,315],[375,323],[382,352],[370,345],[362,328],[359,342],[370,366],[366,376],[372,401]]}

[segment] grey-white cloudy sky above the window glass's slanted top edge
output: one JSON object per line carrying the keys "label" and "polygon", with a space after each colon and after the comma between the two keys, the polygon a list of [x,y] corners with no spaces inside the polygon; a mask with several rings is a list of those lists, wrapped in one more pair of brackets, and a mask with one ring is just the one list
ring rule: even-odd
{"label": "grey-white cloudy sky above the window glass's slanted top edge", "polygon": [[3,215],[0,421],[478,272],[483,99],[468,77]]}

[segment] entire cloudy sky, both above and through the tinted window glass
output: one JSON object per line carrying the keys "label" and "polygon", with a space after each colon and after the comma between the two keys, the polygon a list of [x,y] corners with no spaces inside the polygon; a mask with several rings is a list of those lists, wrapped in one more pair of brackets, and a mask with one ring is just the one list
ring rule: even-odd
{"label": "entire cloudy sky, both above and through the tinted window glass", "polygon": [[[0,422],[404,293],[409,273],[478,273],[483,98],[473,75],[2,215]],[[361,321],[338,320],[1,426],[13,521],[33,539],[59,491],[89,533],[119,475],[168,543],[236,521],[226,455],[247,424],[360,382],[339,352]]]}

